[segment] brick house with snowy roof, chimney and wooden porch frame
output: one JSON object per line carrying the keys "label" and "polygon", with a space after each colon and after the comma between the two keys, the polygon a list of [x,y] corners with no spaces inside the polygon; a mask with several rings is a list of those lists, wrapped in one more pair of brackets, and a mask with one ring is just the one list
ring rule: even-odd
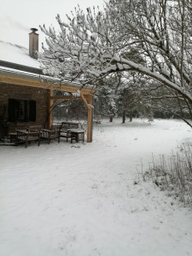
{"label": "brick house with snowy roof, chimney and wooden porch frame", "polygon": [[[29,125],[42,125],[49,128],[53,122],[51,108],[57,99],[69,99],[70,96],[54,96],[58,85],[51,83],[49,87],[42,82],[42,71],[38,68],[36,51],[38,50],[38,34],[32,29],[29,34],[29,52],[19,45],[4,43],[2,49],[13,52],[0,54],[0,138]],[[8,56],[8,57],[7,57]],[[16,56],[13,60],[13,56]],[[13,61],[12,61],[13,60]],[[21,63],[20,63],[21,62]],[[80,84],[61,84],[59,90],[77,93]],[[87,142],[91,142],[92,133],[92,94],[93,87],[80,90],[80,96],[88,110]]]}

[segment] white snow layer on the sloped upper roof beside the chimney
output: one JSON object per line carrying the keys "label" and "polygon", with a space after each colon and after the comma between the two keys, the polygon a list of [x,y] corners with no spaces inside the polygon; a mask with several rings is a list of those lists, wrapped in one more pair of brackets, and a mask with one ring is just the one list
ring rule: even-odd
{"label": "white snow layer on the sloped upper roof beside the chimney", "polygon": [[0,41],[0,60],[39,68],[39,62],[29,55],[29,49],[18,44]]}

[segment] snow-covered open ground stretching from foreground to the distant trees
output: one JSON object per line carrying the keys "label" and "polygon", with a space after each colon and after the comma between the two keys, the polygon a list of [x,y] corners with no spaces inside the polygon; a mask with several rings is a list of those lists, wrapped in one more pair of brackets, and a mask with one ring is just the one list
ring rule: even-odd
{"label": "snow-covered open ground stretching from foreground to the distant trees", "polygon": [[138,182],[191,137],[178,120],[114,119],[93,143],[0,147],[0,255],[192,255],[192,211]]}

